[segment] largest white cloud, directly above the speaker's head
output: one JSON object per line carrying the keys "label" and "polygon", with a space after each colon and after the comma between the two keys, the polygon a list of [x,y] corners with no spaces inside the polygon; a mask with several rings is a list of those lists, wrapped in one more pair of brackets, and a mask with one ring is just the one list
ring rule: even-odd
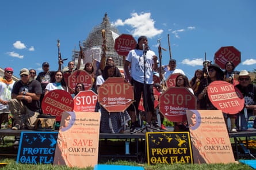
{"label": "largest white cloud, directly above the speaker's head", "polygon": [[133,29],[130,31],[132,36],[147,36],[148,38],[152,38],[157,36],[163,32],[162,29],[155,28],[155,21],[152,20],[151,13],[132,13],[131,18],[122,21],[121,19],[116,20],[113,23],[114,26],[124,26],[129,25]]}

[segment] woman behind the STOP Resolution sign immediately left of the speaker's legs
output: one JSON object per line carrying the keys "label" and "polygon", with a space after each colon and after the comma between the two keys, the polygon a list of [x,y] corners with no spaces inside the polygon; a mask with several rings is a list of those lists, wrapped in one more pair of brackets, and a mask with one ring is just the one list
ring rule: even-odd
{"label": "woman behind the STOP Resolution sign immediately left of the speaker's legs", "polygon": [[[105,82],[106,79],[114,77],[114,64],[106,64],[102,75],[97,76],[97,87]],[[122,133],[124,132],[124,125],[131,118],[128,113],[124,112],[111,112],[109,113],[104,107],[100,106],[101,109],[101,133]],[[125,120],[124,120],[125,117]]]}

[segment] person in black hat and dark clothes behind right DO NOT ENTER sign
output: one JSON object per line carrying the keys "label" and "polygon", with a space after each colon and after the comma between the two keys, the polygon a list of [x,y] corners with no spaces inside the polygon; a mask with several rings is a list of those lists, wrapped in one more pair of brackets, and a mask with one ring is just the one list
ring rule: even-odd
{"label": "person in black hat and dark clothes behind right DO NOT ENTER sign", "polygon": [[217,110],[211,103],[207,95],[207,88],[210,83],[216,80],[224,80],[224,72],[217,64],[211,64],[208,66],[208,76],[205,79],[202,79],[201,83],[198,86],[198,95],[197,99],[199,101],[201,110]]}

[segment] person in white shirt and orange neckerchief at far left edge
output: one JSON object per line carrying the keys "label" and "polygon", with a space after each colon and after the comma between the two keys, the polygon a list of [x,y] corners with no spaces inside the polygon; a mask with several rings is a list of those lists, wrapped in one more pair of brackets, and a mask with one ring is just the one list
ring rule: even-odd
{"label": "person in white shirt and orange neckerchief at far left edge", "polygon": [[11,94],[13,90],[14,80],[13,76],[13,68],[6,67],[5,73],[2,78],[0,78],[0,129],[2,123],[5,125],[8,122],[8,114],[9,114],[9,105],[8,101],[12,99]]}

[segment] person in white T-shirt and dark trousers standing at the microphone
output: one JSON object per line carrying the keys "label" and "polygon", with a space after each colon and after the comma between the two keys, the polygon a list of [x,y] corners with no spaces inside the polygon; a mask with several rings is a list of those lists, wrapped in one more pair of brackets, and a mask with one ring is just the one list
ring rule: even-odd
{"label": "person in white T-shirt and dark trousers standing at the microphone", "polygon": [[[137,42],[136,48],[129,51],[124,64],[126,78],[133,85],[135,99],[134,106],[131,105],[128,108],[131,116],[130,132],[135,130],[136,113],[139,113],[138,108],[142,93],[144,95],[143,105],[147,113],[146,127],[151,123],[154,111],[153,70],[158,68],[157,57],[155,52],[149,49],[147,37],[140,36]],[[129,69],[129,65],[131,65],[131,69]]]}

